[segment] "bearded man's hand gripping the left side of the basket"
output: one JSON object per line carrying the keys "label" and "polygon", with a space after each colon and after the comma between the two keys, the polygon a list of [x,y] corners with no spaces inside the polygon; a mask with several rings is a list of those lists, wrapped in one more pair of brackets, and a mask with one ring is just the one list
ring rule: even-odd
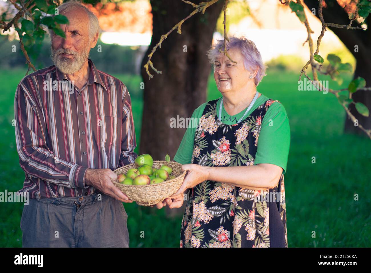
{"label": "bearded man's hand gripping the left side of the basket", "polygon": [[116,173],[111,169],[87,169],[85,173],[85,184],[91,185],[106,195],[109,195],[121,202],[132,203],[122,191],[120,191],[112,181],[117,181]]}

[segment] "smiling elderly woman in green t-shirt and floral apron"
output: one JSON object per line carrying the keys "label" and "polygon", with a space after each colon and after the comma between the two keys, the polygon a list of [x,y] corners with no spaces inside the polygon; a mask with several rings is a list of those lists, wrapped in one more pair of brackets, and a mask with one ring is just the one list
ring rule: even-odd
{"label": "smiling elderly woman in green t-shirt and floral apron", "polygon": [[187,176],[157,207],[187,200],[181,247],[287,247],[289,120],[279,101],[256,90],[265,65],[255,44],[231,37],[226,48],[234,62],[223,48],[219,40],[208,52],[222,97],[193,112],[198,127],[187,129],[174,157]]}

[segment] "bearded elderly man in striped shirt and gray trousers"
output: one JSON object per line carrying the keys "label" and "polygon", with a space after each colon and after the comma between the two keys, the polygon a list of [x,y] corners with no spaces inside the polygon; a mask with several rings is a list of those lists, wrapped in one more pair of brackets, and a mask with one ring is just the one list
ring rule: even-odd
{"label": "bearded elderly man in striped shirt and gray trousers", "polygon": [[22,246],[128,247],[122,202],[132,201],[112,183],[112,170],[137,157],[130,95],[88,59],[100,32],[96,16],[77,1],[59,14],[69,24],[61,25],[66,38],[51,33],[55,65],[24,77],[15,95],[25,173],[19,193],[31,198]]}

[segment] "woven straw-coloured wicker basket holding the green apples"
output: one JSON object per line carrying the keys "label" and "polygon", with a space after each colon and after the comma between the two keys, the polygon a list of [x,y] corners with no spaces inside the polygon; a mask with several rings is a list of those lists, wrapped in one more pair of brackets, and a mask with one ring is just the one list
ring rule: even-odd
{"label": "woven straw-coloured wicker basket holding the green apples", "polygon": [[[153,168],[160,169],[162,165],[166,164],[166,161],[154,161]],[[182,165],[178,162],[170,161],[169,162],[173,172],[171,175],[174,175],[174,179],[167,180],[158,184],[150,185],[124,185],[118,182],[114,182],[115,186],[119,188],[124,194],[126,194],[129,199],[137,202],[141,206],[152,206],[165,198],[175,194],[178,191],[180,186],[184,181],[185,171],[182,172]],[[132,168],[136,168],[134,163],[125,165],[124,167],[114,170],[118,175],[120,173],[125,173]]]}

